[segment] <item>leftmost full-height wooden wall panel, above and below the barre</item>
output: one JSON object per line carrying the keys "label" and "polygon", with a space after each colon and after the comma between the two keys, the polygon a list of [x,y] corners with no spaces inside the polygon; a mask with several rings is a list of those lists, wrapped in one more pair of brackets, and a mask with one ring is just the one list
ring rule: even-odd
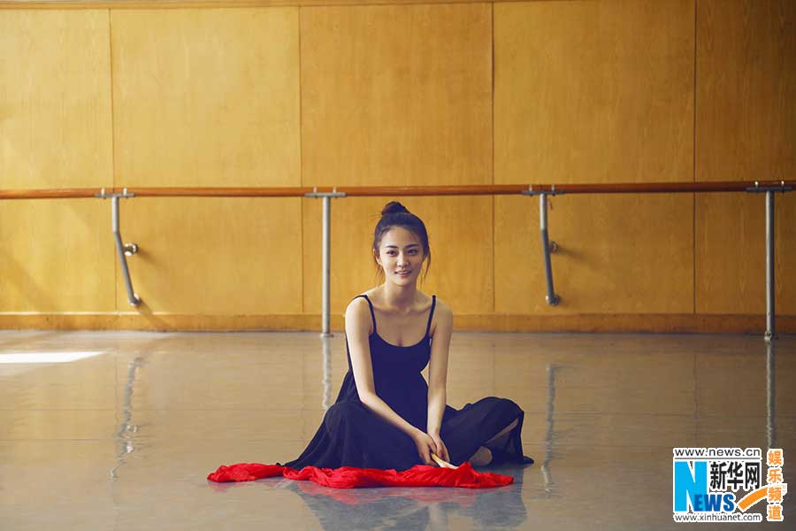
{"label": "leftmost full-height wooden wall panel, above and below the barre", "polygon": [[[108,12],[0,15],[0,189],[111,186]],[[110,207],[0,202],[0,312],[113,309]]]}

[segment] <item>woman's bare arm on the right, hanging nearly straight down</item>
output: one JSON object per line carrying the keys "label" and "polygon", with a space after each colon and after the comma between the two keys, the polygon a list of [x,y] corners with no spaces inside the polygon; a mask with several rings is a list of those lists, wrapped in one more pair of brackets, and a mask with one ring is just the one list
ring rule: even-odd
{"label": "woman's bare arm on the right, hanging nearly straight down", "polygon": [[448,350],[453,334],[453,312],[437,299],[432,327],[432,352],[428,367],[428,434],[440,435],[448,389]]}

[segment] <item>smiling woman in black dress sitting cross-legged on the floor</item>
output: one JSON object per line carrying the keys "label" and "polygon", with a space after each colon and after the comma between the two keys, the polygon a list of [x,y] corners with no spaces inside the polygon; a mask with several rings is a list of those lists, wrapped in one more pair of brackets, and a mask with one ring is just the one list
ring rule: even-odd
{"label": "smiling woman in black dress sitting cross-legged on the floor", "polygon": [[372,251],[384,283],[348,304],[348,373],[307,449],[285,466],[401,471],[433,465],[432,453],[454,465],[532,463],[517,404],[494,396],[458,411],[446,404],[453,314],[417,289],[431,263],[425,225],[397,202],[381,214]]}

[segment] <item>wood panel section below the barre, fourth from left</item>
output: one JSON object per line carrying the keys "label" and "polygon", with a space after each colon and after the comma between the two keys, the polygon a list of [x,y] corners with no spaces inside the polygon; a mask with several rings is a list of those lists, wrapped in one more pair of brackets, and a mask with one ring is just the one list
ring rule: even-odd
{"label": "wood panel section below the barre, fourth from left", "polygon": [[547,222],[557,306],[545,300],[539,199],[495,198],[495,312],[693,312],[691,196],[560,196]]}

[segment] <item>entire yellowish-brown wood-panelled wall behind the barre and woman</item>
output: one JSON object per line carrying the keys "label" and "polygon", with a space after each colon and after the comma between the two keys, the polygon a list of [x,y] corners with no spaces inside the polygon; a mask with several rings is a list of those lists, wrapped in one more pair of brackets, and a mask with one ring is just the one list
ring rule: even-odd
{"label": "entire yellowish-brown wood-panelled wall behind the barre and woman", "polygon": [[[0,189],[796,174],[788,0],[272,4],[0,2]],[[334,327],[373,285],[386,200],[333,200]],[[762,196],[556,196],[556,307],[537,200],[402,201],[460,328],[764,328]],[[0,202],[0,327],[319,326],[318,200],[123,200],[138,309],[109,211]],[[781,331],[793,242],[796,195],[777,196]]]}

